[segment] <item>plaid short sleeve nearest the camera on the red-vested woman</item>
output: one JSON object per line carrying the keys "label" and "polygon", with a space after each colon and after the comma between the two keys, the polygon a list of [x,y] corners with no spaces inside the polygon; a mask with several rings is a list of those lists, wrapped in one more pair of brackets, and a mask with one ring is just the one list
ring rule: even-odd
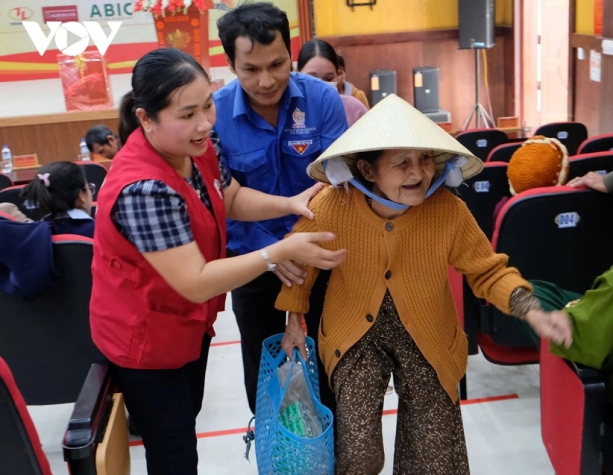
{"label": "plaid short sleeve nearest the camera on the red-vested woman", "polygon": [[142,180],[126,186],[113,206],[112,220],[140,253],[194,241],[185,200],[162,181]]}

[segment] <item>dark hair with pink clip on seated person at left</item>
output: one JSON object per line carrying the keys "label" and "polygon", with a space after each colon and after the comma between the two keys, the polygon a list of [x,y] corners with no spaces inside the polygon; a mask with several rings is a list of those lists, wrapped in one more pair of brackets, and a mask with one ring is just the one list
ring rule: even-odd
{"label": "dark hair with pink clip on seated person at left", "polygon": [[51,218],[75,208],[87,183],[83,169],[73,162],[52,162],[40,167],[36,177],[28,183],[21,196],[51,215]]}

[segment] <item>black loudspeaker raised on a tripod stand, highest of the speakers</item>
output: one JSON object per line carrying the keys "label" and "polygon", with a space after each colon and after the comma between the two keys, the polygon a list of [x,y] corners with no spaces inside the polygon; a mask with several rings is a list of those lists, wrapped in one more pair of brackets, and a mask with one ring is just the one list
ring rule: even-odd
{"label": "black loudspeaker raised on a tripod stand, highest of the speakers", "polygon": [[460,50],[492,48],[495,0],[458,0]]}

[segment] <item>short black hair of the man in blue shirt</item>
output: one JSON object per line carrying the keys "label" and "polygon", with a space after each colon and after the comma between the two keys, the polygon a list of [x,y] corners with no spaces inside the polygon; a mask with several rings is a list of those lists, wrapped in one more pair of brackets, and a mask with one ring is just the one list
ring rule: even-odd
{"label": "short black hair of the man in blue shirt", "polygon": [[217,20],[217,31],[224,53],[234,67],[236,39],[248,37],[252,43],[270,45],[280,32],[283,43],[292,55],[289,20],[286,13],[270,2],[247,2],[230,10]]}

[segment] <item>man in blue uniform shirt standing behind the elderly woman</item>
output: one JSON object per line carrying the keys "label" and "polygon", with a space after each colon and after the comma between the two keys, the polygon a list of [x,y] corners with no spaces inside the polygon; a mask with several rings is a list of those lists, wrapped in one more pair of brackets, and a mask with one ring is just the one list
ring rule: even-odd
{"label": "man in blue uniform shirt standing behind the elderly woman", "polygon": [[[238,6],[219,19],[218,31],[227,64],[237,75],[236,81],[214,94],[215,132],[221,140],[224,164],[242,186],[294,196],[314,183],[307,175],[307,165],[348,128],[340,96],[316,78],[291,73],[289,22],[273,4]],[[297,219],[229,220],[229,255],[246,254],[275,243]],[[276,277],[267,273],[232,291],[245,387],[253,412],[262,341],[285,330],[285,313],[274,307],[281,282],[291,285],[303,278],[302,270],[291,262],[277,265],[273,272]],[[313,289],[311,311],[305,316],[309,334],[315,338],[327,276],[322,273],[319,290]],[[319,372],[327,388],[322,365]],[[326,403],[332,404],[333,399],[326,398]]]}

